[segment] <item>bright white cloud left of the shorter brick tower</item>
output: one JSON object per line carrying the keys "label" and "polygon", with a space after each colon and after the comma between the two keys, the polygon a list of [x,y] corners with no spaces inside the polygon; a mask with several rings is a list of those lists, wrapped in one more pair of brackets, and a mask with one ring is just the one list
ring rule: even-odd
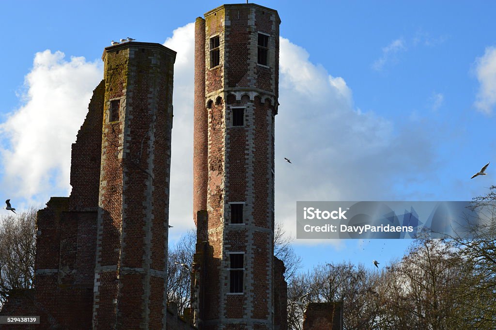
{"label": "bright white cloud left of the shorter brick tower", "polygon": [[[0,148],[9,196],[32,198],[54,189],[69,191],[70,148],[88,109],[102,65],[62,52],[36,53],[25,77],[23,105],[0,125]],[[54,187],[55,186],[55,187]]]}

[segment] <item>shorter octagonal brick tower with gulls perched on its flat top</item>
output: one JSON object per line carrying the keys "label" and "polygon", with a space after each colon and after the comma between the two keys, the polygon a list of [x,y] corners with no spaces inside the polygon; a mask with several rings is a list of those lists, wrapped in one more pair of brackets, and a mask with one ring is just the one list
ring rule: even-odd
{"label": "shorter octagonal brick tower with gulls perched on its flat top", "polygon": [[105,49],[94,329],[165,329],[176,52]]}

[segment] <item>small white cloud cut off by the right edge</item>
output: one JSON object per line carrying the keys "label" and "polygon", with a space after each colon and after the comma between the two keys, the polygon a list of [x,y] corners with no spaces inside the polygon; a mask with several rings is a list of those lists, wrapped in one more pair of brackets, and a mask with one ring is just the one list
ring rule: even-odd
{"label": "small white cloud cut off by the right edge", "polygon": [[487,47],[484,55],[476,59],[475,65],[480,86],[474,106],[489,115],[496,104],[496,47]]}

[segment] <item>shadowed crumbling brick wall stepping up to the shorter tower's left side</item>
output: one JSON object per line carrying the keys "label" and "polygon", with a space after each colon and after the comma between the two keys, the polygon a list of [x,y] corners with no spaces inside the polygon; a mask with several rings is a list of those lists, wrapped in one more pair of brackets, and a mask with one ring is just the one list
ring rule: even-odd
{"label": "shadowed crumbling brick wall stepping up to the shorter tower's left side", "polygon": [[102,81],[72,144],[70,198],[53,197],[38,211],[35,290],[11,295],[2,310],[40,315],[32,329],[91,328],[104,91]]}

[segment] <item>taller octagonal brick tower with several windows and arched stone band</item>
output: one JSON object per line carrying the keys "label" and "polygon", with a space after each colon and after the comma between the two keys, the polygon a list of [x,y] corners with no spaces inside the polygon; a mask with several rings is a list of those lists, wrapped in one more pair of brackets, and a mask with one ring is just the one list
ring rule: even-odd
{"label": "taller octagonal brick tower with several windows and arched stone band", "polygon": [[195,26],[193,322],[200,330],[280,329],[273,236],[281,21],[253,3],[204,16]]}

